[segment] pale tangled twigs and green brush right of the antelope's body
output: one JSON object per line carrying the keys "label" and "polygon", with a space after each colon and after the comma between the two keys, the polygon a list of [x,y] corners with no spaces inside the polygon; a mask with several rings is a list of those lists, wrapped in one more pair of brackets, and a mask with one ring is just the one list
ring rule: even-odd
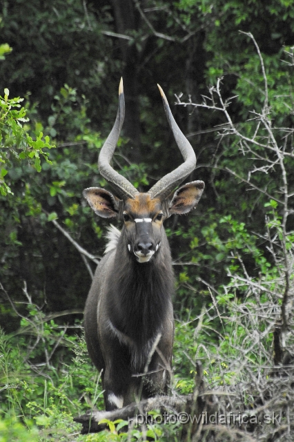
{"label": "pale tangled twigs and green brush right of the antelope's body", "polygon": [[[269,202],[268,206],[271,204]],[[275,232],[280,230],[279,218],[275,212],[271,213],[271,219],[268,218],[268,227]],[[215,388],[246,382],[247,370],[251,376],[259,376],[260,367],[268,365],[273,351],[273,333],[268,323],[275,322],[275,314],[271,316],[268,308],[280,309],[284,293],[284,280],[281,280],[284,261],[278,268],[271,265],[266,251],[256,247],[258,238],[249,235],[244,225],[234,222],[231,217],[221,222],[232,234],[232,238],[222,244],[230,257],[229,279],[217,293],[215,287],[208,286],[204,298],[206,309],[197,316],[193,315],[193,310],[187,310],[184,322],[176,325],[173,361],[175,388],[180,394],[193,392],[192,374],[197,360],[204,365],[206,382]],[[291,247],[293,249],[293,243]],[[248,254],[255,263],[255,276],[252,273],[248,276],[242,260]],[[187,282],[192,286],[191,277],[185,277]],[[288,338],[292,340],[290,336]],[[288,345],[291,345],[290,341]],[[240,370],[238,367],[243,357]]]}

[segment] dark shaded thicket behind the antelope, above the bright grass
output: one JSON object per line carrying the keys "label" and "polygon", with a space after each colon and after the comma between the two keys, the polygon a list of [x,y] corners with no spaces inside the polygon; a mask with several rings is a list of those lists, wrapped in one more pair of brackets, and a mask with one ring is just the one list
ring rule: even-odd
{"label": "dark shaded thicket behind the antelope, above the bright grass", "polygon": [[[12,193],[0,195],[0,325],[8,336],[28,325],[23,319],[28,315],[50,318],[53,313],[56,336],[48,348],[55,348],[64,327],[68,339],[80,333],[82,314],[77,311],[84,309],[95,263],[82,258],[56,222],[86,251],[102,256],[107,222],[90,211],[81,193],[88,186],[107,187],[96,162],[115,121],[121,76],[126,119],[115,168],[146,191],[182,161],[158,83],[197,155],[197,169],[187,182],[206,183],[197,210],[166,222],[173,259],[179,264],[175,318],[189,321],[203,305],[211,305],[208,285],[228,284],[228,266],[238,267],[232,264],[231,251],[242,253],[251,243],[268,267],[275,265],[264,239],[253,235],[264,234],[266,194],[249,191],[246,182],[228,172],[233,169],[247,179],[251,158],[240,154],[232,137],[219,136],[217,126],[227,123],[224,113],[176,105],[175,94],[182,93],[183,102],[189,97],[202,102],[208,87],[223,77],[224,99],[238,95],[229,107],[232,121],[244,127],[249,111],[259,111],[264,99],[257,50],[244,34],[251,32],[266,66],[270,105],[274,97],[289,97],[293,66],[286,73],[281,59],[284,48],[294,45],[293,0],[3,0],[0,17],[0,44],[12,48],[0,60],[0,95],[8,88],[10,97],[25,97],[30,121],[23,122],[24,128],[32,137],[43,132],[56,144],[48,150],[52,165],[41,160],[40,173],[19,160],[13,149],[8,155],[5,180]],[[273,105],[275,122],[291,130],[293,112],[285,113],[279,103],[277,98]],[[266,190],[275,193],[281,189],[281,175],[275,169],[270,175]],[[288,180],[293,182],[291,167]],[[264,189],[263,176],[255,177],[255,186]],[[292,228],[288,218],[287,229]],[[254,253],[242,256],[252,278],[261,274],[257,261]],[[235,289],[240,302],[245,294],[244,287]],[[57,314],[64,311],[69,312]],[[176,349],[184,345],[181,339]],[[209,339],[214,345],[217,335]],[[57,346],[47,365],[58,367],[63,359],[68,363],[68,352],[66,345]],[[43,349],[34,347],[30,357],[35,367],[42,364]],[[189,376],[188,361],[181,364],[176,358],[175,367]]]}

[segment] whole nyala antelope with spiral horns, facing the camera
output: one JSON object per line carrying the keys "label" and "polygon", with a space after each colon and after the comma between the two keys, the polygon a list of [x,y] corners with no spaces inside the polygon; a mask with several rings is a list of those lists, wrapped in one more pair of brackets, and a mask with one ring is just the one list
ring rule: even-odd
{"label": "whole nyala antelope with spiral horns, facing the camera", "polygon": [[[110,166],[124,122],[124,89],[119,84],[115,124],[101,148],[98,168],[115,189],[90,187],[84,198],[102,218],[119,218],[108,231],[108,246],[88,294],[85,333],[88,352],[99,369],[106,410],[166,394],[173,350],[174,276],[164,220],[197,205],[204,182],[176,187],[195,169],[192,146],[179,130],[164,91],[166,117],[184,163],[141,193]],[[173,192],[174,191],[174,192]]]}

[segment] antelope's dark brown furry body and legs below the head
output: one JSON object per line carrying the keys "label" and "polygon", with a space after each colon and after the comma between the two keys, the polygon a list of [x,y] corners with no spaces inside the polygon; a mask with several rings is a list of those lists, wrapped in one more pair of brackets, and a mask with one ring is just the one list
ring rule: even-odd
{"label": "antelope's dark brown furry body and legs below the head", "polygon": [[[133,402],[140,390],[143,397],[166,393],[173,349],[173,287],[165,232],[152,262],[140,264],[128,253],[124,227],[117,249],[107,253],[97,267],[85,309],[88,351],[97,369],[104,370],[106,410],[113,408],[108,392],[123,397],[124,405]],[[124,342],[112,332],[109,320],[128,337]],[[146,367],[159,334],[157,350]],[[145,368],[155,373],[132,377],[143,374]]]}

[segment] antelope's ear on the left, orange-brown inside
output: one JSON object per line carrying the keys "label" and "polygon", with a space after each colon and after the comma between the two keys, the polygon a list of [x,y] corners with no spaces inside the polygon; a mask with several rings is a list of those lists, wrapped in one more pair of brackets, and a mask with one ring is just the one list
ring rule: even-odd
{"label": "antelope's ear on the left, orange-brown inside", "polygon": [[83,196],[90,204],[91,209],[102,218],[113,218],[119,214],[121,200],[105,189],[88,187],[83,191]]}

